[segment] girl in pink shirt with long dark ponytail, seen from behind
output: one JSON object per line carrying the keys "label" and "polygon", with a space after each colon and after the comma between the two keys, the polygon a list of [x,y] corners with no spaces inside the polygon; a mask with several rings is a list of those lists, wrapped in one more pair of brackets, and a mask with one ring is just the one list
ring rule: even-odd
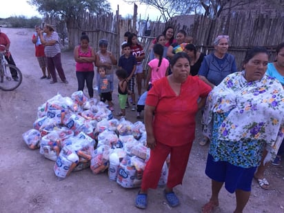
{"label": "girl in pink shirt with long dark ponytail, seen from behind", "polygon": [[154,45],[153,50],[155,58],[148,63],[149,73],[147,77],[147,82],[149,88],[152,87],[152,83],[154,81],[168,75],[170,65],[170,62],[163,57],[163,45],[156,43]]}

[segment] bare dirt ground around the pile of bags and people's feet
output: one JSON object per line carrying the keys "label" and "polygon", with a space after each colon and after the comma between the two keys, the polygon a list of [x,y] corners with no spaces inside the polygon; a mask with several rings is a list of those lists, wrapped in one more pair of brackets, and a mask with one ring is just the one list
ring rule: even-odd
{"label": "bare dirt ground around the pile of bags and people's feet", "polygon": [[[59,181],[52,170],[54,161],[45,159],[39,150],[28,149],[21,134],[32,128],[37,108],[58,92],[70,97],[77,90],[75,62],[72,52],[62,52],[69,84],[50,85],[48,80],[39,79],[41,72],[34,57],[32,29],[1,28],[1,31],[10,37],[10,49],[23,72],[23,83],[13,92],[0,91],[0,212],[142,212],[134,207],[137,189],[124,189],[110,181],[106,173],[94,175],[89,169],[72,172]],[[127,117],[136,121],[135,113],[130,110]],[[176,187],[181,205],[174,209],[165,205],[163,189],[158,188],[149,192],[147,212],[200,212],[208,201],[211,185],[204,174],[208,146],[201,147],[197,143],[201,139],[200,118],[200,114],[196,116],[196,141],[183,185]],[[284,212],[283,163],[280,167],[270,166],[266,175],[270,190],[262,190],[254,181],[245,212]],[[234,194],[222,189],[216,212],[233,212],[234,205]]]}

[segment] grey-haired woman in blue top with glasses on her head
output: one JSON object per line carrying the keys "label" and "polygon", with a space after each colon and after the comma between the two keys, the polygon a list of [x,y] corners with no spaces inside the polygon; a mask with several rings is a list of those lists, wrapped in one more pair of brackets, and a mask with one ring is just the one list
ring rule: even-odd
{"label": "grey-haired woman in blue top with glasses on her head", "polygon": [[[236,61],[232,54],[227,53],[229,48],[229,36],[219,35],[214,40],[215,51],[212,54],[208,54],[204,57],[199,69],[199,78],[205,83],[214,88],[219,85],[228,74],[237,72]],[[209,141],[207,137],[204,137],[199,142],[200,145],[206,145]]]}

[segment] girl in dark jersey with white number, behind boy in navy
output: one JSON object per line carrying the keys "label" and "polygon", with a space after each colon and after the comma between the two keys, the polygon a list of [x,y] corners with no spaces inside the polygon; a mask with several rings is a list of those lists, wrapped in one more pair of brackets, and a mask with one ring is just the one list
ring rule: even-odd
{"label": "girl in dark jersey with white number, behind boy in navy", "polygon": [[[135,70],[135,74],[136,74],[136,82],[137,82],[137,90],[138,90],[138,96],[141,96],[141,88],[142,88],[142,79],[143,79],[143,64],[142,61],[143,59],[145,59],[145,52],[143,50],[143,47],[137,43],[137,35],[132,33],[129,37],[128,37],[128,43],[130,44],[130,48],[131,48],[131,53],[134,55],[134,57],[136,58],[136,70]],[[132,95],[132,111],[135,111],[135,94],[134,94],[134,87],[133,87],[133,91],[132,88],[130,88]]]}

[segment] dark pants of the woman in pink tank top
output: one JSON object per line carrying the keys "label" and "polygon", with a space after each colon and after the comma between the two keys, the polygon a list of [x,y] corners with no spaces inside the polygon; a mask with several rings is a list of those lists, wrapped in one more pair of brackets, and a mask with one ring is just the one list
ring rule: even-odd
{"label": "dark pants of the woman in pink tank top", "polygon": [[94,71],[90,72],[76,72],[76,77],[78,80],[78,91],[84,90],[85,83],[87,84],[88,92],[90,98],[94,97],[94,89],[92,88],[92,81],[94,79]]}

